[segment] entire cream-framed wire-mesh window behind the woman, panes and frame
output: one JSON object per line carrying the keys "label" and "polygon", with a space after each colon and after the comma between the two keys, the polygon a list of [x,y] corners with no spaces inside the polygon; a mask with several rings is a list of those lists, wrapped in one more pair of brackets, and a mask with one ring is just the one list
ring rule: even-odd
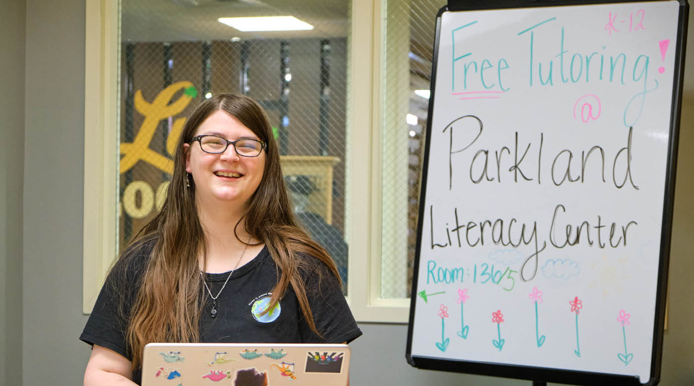
{"label": "entire cream-framed wire-mesh window behind the woman, panes and frame", "polygon": [[[185,119],[202,98],[228,91],[265,107],[296,207],[321,220],[309,231],[334,257],[348,250],[349,264],[336,261],[357,319],[405,322],[427,105],[413,90],[428,89],[437,9],[87,2],[85,313],[119,250],[163,202]],[[314,29],[244,33],[217,21],[244,12],[289,14]]]}

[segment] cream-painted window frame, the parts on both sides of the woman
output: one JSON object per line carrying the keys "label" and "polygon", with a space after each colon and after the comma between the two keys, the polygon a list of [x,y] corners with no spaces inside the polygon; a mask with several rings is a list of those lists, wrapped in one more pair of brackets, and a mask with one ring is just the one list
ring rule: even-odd
{"label": "cream-painted window frame, the parts on both sides of the woman", "polygon": [[[347,299],[358,322],[407,323],[409,299],[381,292],[382,64],[386,0],[352,0],[347,96]],[[91,313],[117,254],[119,0],[87,1],[83,313]],[[404,117],[403,117],[404,119]],[[370,147],[364,147],[364,142]],[[354,149],[364,149],[355,154]],[[365,204],[361,204],[365,203]],[[354,279],[354,278],[359,279]],[[366,279],[366,280],[364,280]]]}

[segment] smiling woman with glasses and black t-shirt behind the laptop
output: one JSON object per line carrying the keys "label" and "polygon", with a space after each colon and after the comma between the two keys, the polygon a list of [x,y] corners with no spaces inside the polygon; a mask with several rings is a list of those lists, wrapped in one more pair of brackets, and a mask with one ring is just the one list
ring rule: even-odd
{"label": "smiling woman with glasses and black t-shirt behind the laptop", "polygon": [[161,211],[96,300],[85,385],[139,383],[149,342],[350,342],[362,333],[340,284],[294,220],[262,107],[212,96],[183,128]]}

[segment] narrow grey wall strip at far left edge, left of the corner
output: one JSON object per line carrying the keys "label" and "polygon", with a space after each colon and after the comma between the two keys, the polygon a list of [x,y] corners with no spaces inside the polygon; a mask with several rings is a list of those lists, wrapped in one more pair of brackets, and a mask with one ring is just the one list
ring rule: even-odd
{"label": "narrow grey wall strip at far left edge, left of the corner", "polygon": [[24,1],[0,14],[0,385],[22,384]]}

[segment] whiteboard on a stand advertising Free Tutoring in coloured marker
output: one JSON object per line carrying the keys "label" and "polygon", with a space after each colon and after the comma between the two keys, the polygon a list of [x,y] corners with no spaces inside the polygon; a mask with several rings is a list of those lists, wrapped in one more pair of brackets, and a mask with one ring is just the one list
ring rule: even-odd
{"label": "whiteboard on a stand advertising Free Tutoring in coloured marker", "polygon": [[439,12],[412,365],[659,377],[686,7]]}

